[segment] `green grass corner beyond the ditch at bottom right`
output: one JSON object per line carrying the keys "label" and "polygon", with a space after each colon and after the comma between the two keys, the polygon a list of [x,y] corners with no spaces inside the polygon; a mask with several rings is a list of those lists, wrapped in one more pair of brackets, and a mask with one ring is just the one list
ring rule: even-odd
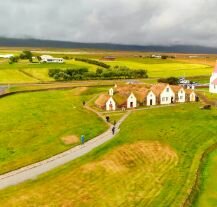
{"label": "green grass corner beyond the ditch at bottom right", "polygon": [[200,193],[194,203],[195,207],[217,206],[217,150],[213,151],[204,163],[201,177]]}

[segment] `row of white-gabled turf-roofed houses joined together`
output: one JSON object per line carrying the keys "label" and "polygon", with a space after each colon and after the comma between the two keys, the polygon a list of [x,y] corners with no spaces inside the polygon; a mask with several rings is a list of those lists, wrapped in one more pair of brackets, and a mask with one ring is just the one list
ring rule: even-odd
{"label": "row of white-gabled turf-roofed houses joined together", "polygon": [[193,90],[182,86],[159,83],[151,87],[144,85],[127,85],[111,88],[108,94],[101,94],[95,105],[107,111],[131,109],[138,106],[164,105],[196,101]]}

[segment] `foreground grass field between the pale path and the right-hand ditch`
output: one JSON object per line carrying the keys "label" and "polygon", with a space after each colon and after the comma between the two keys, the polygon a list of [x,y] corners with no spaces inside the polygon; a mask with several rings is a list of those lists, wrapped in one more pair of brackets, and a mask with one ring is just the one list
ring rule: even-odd
{"label": "foreground grass field between the pale path and the right-hand ditch", "polygon": [[133,112],[111,141],[37,180],[0,192],[2,206],[178,207],[205,146],[217,141],[217,110],[198,104]]}

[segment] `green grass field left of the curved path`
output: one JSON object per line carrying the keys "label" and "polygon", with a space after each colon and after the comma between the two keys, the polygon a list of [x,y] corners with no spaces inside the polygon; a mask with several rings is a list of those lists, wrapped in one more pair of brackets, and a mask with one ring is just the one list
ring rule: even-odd
{"label": "green grass field left of the curved path", "polygon": [[[82,106],[91,98],[88,90],[34,92],[0,99],[0,174],[65,151],[79,144],[81,134],[89,140],[104,132],[107,125]],[[95,93],[101,90],[105,89],[97,88]],[[62,138],[72,135],[78,142],[64,144]]]}

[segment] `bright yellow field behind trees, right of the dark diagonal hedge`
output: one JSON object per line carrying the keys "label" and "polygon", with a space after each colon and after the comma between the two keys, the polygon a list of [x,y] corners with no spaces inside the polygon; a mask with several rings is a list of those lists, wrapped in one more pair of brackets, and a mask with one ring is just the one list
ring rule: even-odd
{"label": "bright yellow field behind trees, right of the dark diagonal hedge", "polygon": [[207,76],[212,72],[212,68],[208,65],[202,64],[188,64],[188,63],[140,63],[133,61],[113,61],[108,62],[112,66],[127,66],[132,69],[146,69],[149,77],[194,77]]}

